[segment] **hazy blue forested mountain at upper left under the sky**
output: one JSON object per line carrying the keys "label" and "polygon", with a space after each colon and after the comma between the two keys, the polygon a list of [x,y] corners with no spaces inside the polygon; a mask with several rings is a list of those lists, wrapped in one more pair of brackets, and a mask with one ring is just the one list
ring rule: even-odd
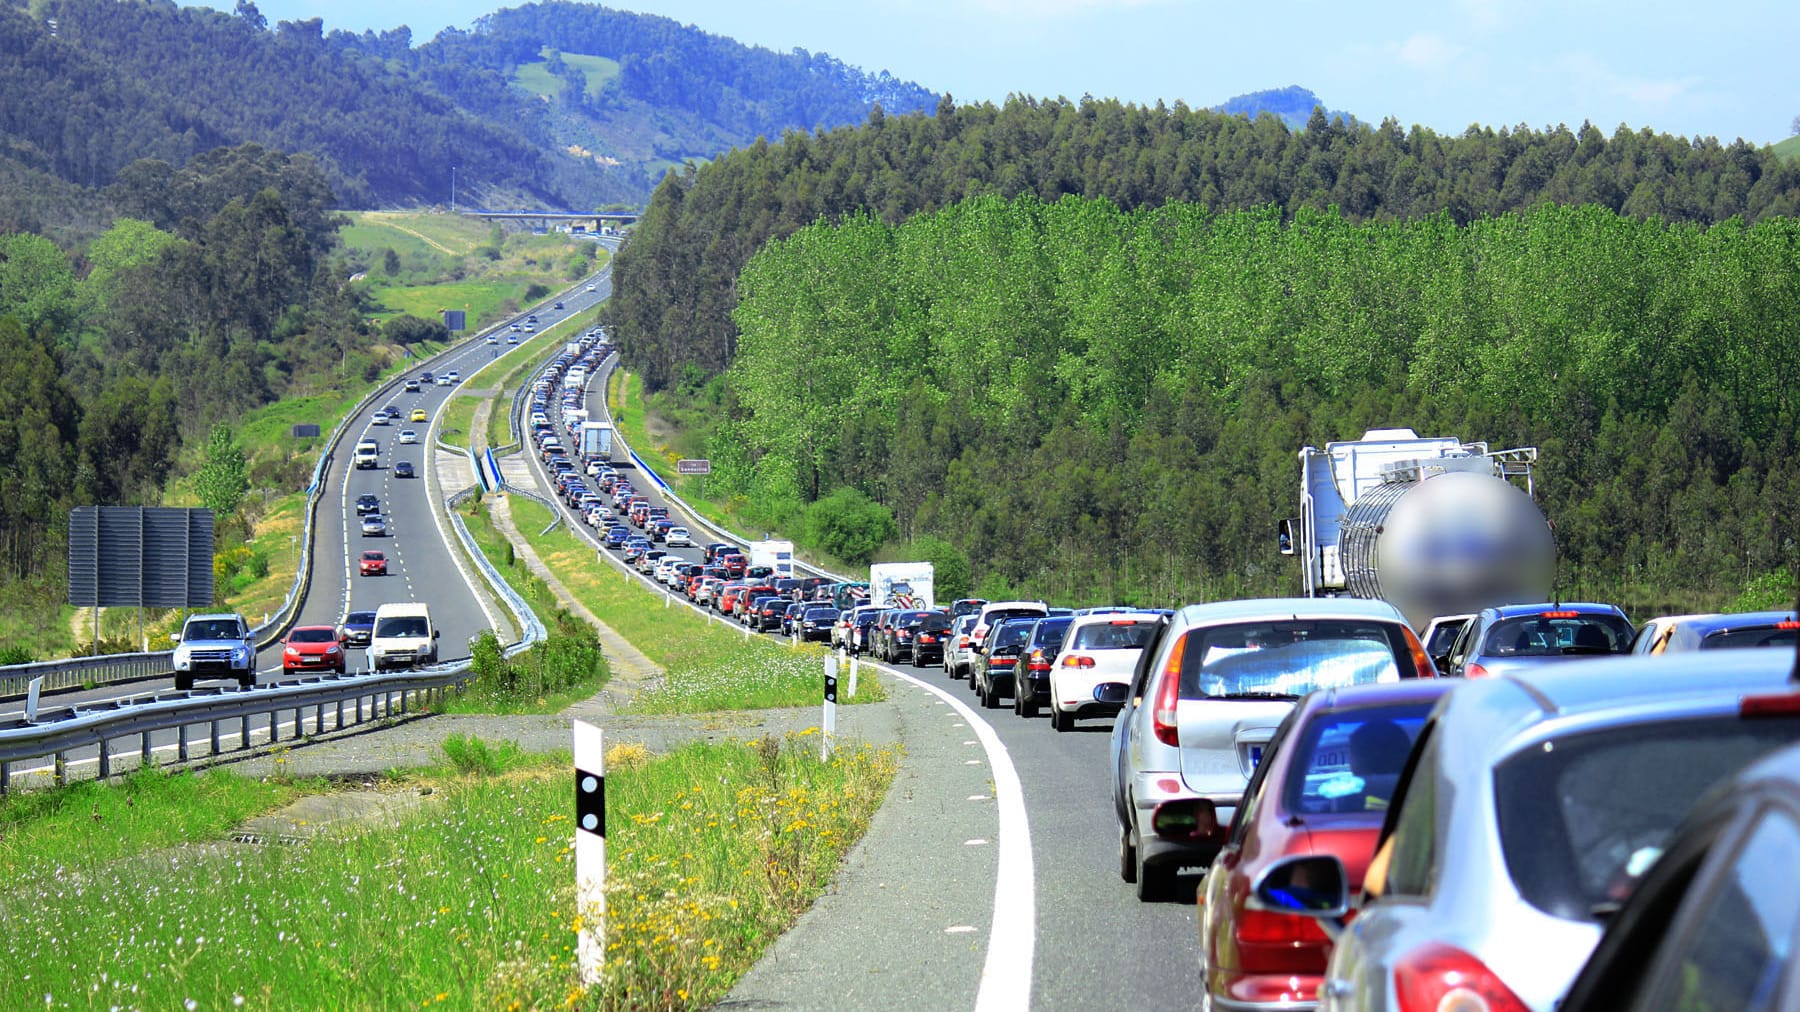
{"label": "hazy blue forested mountain at upper left under the sky", "polygon": [[[139,158],[257,142],[313,155],[344,207],[639,203],[670,166],[758,135],[934,108],[830,56],[590,4],[499,11],[412,47],[169,0],[0,0],[0,227],[41,227]],[[54,110],[54,113],[52,113]],[[86,211],[92,211],[86,209]]]}

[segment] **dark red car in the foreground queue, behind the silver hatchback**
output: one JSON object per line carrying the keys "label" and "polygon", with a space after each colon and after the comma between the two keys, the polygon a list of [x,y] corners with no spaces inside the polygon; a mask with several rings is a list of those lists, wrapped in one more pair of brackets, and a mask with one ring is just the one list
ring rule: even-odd
{"label": "dark red car in the foreground queue, behind the silver hatchback", "polygon": [[[1330,960],[1330,938],[1307,917],[1251,909],[1262,872],[1296,854],[1334,854],[1350,895],[1375,855],[1388,798],[1413,736],[1438,697],[1460,679],[1408,679],[1307,695],[1269,740],[1244,805],[1199,890],[1201,978],[1211,1008],[1312,1008]],[[1211,836],[1206,800],[1156,812],[1165,836]]]}

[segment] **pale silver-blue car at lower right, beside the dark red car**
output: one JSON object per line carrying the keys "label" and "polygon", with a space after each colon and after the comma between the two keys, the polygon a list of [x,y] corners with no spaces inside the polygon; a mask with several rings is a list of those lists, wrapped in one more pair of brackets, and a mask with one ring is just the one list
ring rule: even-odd
{"label": "pale silver-blue car at lower right, beside the dark red car", "polygon": [[[1337,935],[1321,1008],[1550,1012],[1688,807],[1800,740],[1791,655],[1699,657],[1525,670],[1444,697]],[[1328,924],[1348,906],[1336,857],[1280,861],[1255,893],[1262,909]]]}

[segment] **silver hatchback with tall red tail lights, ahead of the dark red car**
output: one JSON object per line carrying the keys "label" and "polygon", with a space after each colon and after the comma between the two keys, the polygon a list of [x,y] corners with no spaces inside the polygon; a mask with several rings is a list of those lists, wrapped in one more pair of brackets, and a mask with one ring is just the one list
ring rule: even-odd
{"label": "silver hatchback with tall red tail lights, ahead of the dark red car", "polygon": [[[1386,601],[1265,598],[1181,609],[1145,646],[1130,686],[1094,688],[1096,702],[1121,706],[1111,753],[1120,877],[1136,882],[1138,899],[1166,899],[1181,868],[1211,863],[1251,771],[1300,697],[1433,673],[1418,636]],[[1159,837],[1150,827],[1156,809],[1188,798],[1213,803],[1215,832]]]}

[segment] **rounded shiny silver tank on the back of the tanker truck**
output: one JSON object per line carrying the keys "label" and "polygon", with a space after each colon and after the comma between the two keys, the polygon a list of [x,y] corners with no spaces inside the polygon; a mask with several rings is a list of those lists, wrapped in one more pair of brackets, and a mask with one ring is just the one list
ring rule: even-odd
{"label": "rounded shiny silver tank on the back of the tanker truck", "polygon": [[1381,484],[1341,528],[1350,592],[1391,603],[1413,628],[1550,598],[1555,537],[1532,497],[1501,477],[1449,472]]}

